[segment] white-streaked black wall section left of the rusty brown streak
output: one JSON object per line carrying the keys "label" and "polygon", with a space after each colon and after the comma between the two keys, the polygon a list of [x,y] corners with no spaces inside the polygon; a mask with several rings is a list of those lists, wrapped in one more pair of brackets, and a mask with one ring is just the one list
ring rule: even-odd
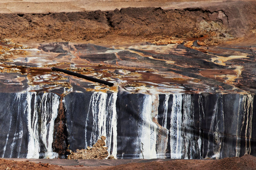
{"label": "white-streaked black wall section left of the rusty brown streak", "polygon": [[53,93],[1,93],[1,157],[54,158],[54,120],[59,96]]}

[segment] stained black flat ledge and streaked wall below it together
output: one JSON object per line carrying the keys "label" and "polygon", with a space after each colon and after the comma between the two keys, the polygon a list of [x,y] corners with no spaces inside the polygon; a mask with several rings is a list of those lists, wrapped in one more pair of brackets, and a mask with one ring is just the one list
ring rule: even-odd
{"label": "stained black flat ledge and streaked wall below it together", "polygon": [[69,42],[22,49],[28,55],[0,64],[0,157],[65,158],[101,136],[117,159],[256,156],[253,49]]}

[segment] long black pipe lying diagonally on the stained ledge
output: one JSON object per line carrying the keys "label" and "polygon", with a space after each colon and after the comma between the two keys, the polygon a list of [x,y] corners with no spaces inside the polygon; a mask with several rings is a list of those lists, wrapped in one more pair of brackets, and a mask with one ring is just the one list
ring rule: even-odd
{"label": "long black pipe lying diagonally on the stained ledge", "polygon": [[69,75],[72,75],[72,76],[76,76],[76,77],[79,77],[79,78],[84,78],[86,80],[93,81],[93,82],[96,82],[96,83],[100,83],[100,84],[103,84],[103,85],[108,85],[108,86],[113,86],[114,85],[114,83],[111,83],[111,82],[108,82],[108,81],[104,81],[104,80],[100,80],[100,79],[97,79],[97,78],[85,76],[83,74],[75,73],[73,71],[59,69],[59,68],[56,68],[56,67],[52,67],[52,71],[60,71],[60,72],[63,72],[63,73],[66,73],[66,74],[69,74]]}

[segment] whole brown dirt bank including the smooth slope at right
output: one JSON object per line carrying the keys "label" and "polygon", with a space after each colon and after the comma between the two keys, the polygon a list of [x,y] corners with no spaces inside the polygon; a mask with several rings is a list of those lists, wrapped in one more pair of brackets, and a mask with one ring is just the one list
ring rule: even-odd
{"label": "whole brown dirt bank including the smooth slope at right", "polygon": [[115,11],[47,14],[0,14],[0,36],[22,41],[155,41],[205,37],[220,44],[255,36],[256,3],[227,1],[209,7],[163,10],[122,8]]}

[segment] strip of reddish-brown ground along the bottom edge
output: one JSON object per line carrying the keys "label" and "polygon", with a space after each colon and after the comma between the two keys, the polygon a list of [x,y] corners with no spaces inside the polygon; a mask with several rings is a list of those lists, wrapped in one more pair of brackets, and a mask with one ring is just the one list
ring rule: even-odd
{"label": "strip of reddish-brown ground along the bottom edge", "polygon": [[129,163],[118,166],[58,166],[50,165],[46,163],[33,163],[26,161],[12,161],[0,159],[0,169],[12,169],[12,170],[46,170],[46,169],[106,169],[106,170],[167,170],[167,169],[195,169],[195,170],[215,170],[215,169],[255,169],[256,167],[256,157],[251,155],[245,155],[243,157],[235,158],[224,158],[219,160],[211,159],[190,159],[190,160],[157,160],[147,163]]}

